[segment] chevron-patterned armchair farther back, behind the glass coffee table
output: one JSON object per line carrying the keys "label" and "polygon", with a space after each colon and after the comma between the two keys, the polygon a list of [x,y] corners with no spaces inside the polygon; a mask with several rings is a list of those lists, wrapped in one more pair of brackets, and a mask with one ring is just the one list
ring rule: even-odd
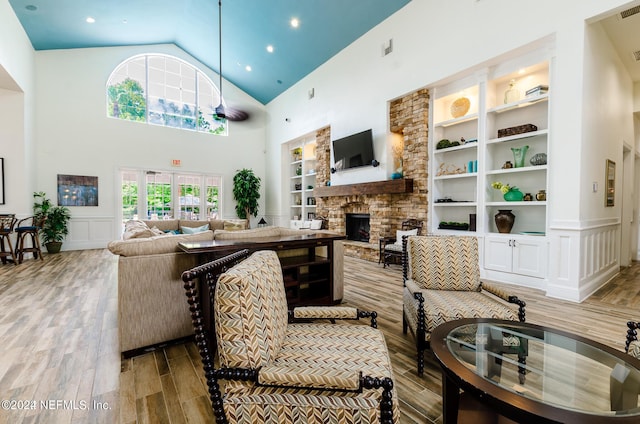
{"label": "chevron-patterned armchair farther back, behind the glass coffee table", "polygon": [[410,329],[415,336],[418,374],[431,332],[440,324],[461,318],[524,322],[522,300],[480,281],[476,237],[405,236],[402,251],[402,332]]}

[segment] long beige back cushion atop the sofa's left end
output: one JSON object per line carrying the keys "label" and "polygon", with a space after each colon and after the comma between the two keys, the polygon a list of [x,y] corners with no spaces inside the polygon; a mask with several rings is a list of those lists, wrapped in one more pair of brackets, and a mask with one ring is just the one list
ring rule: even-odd
{"label": "long beige back cushion atop the sofa's left end", "polygon": [[116,240],[107,245],[107,248],[114,255],[120,256],[140,256],[153,255],[158,253],[180,252],[178,243],[192,241],[213,240],[213,231],[204,231],[197,234],[163,234],[144,239]]}

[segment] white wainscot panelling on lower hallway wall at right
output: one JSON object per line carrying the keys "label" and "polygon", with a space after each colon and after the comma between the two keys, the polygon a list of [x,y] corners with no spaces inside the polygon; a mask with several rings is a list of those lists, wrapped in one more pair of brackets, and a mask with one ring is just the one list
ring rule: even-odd
{"label": "white wainscot panelling on lower hallway wall at right", "polygon": [[547,295],[581,302],[620,271],[620,220],[558,223],[549,234]]}

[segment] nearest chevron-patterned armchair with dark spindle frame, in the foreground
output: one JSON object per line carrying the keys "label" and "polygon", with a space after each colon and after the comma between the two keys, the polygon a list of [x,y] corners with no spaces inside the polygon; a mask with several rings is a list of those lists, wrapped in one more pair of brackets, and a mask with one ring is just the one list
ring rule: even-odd
{"label": "nearest chevron-patterned armchair with dark spindle frame, in the foreground", "polygon": [[[234,253],[185,271],[182,279],[218,424],[399,421],[375,312],[340,306],[288,311],[273,251]],[[213,334],[203,321],[202,284],[212,293],[205,301],[213,302]],[[344,321],[358,318],[371,318],[371,326]]]}

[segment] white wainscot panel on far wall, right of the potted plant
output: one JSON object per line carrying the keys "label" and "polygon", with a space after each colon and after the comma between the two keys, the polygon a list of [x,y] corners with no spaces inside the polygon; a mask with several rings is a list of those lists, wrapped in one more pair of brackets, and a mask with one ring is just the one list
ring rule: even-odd
{"label": "white wainscot panel on far wall, right of the potted plant", "polygon": [[72,216],[62,250],[102,249],[119,233],[113,216]]}

